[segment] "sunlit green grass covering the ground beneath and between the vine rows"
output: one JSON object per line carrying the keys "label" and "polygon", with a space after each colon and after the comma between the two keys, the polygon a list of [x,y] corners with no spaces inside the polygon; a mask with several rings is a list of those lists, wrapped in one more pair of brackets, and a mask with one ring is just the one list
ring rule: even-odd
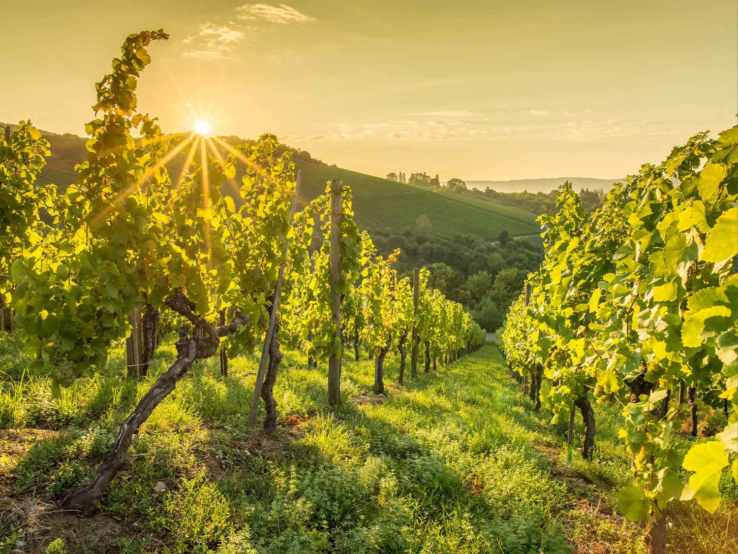
{"label": "sunlit green grass covering the ground beneath and between the vine rows", "polygon": [[[165,344],[156,357],[172,352]],[[111,359],[122,356],[114,345]],[[30,552],[58,537],[69,553],[644,552],[642,527],[613,513],[615,488],[630,478],[617,411],[596,406],[596,459],[567,464],[564,438],[517,391],[494,346],[405,387],[388,357],[379,404],[348,402],[370,394],[373,363],[345,360],[336,408],[325,368],[286,352],[274,437],[246,425],[257,362],[231,360],[225,383],[218,360],[197,363],[89,517],[61,516],[53,501],[92,474],[164,364],[142,383],[111,370],[58,400],[47,377],[21,383],[13,369],[0,391],[0,553],[12,533]],[[726,532],[734,502],[714,516],[674,504],[673,551],[737,551]]]}

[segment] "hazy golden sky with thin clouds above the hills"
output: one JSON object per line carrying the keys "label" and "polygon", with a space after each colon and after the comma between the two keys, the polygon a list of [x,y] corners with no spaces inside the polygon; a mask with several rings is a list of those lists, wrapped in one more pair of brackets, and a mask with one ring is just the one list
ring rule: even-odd
{"label": "hazy golden sky with thin clouds above the hills", "polygon": [[8,1],[0,120],[83,134],[125,35],[163,27],[139,108],[441,180],[622,177],[738,111],[738,4]]}

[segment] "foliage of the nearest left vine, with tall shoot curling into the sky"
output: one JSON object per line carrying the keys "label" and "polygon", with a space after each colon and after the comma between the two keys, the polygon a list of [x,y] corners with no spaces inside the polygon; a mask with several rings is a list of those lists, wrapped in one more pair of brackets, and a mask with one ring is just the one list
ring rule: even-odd
{"label": "foliage of the nearest left vine, with tall shoot curling into the sky", "polygon": [[[56,391],[104,365],[108,342],[128,334],[128,314],[145,301],[164,309],[165,298],[184,293],[213,322],[220,310],[240,310],[249,323],[227,339],[235,350],[251,347],[265,326],[291,233],[292,162],[289,154],[275,160],[273,135],[236,147],[249,160],[243,205],[236,210],[221,196],[236,154],[214,159],[201,137],[165,136],[154,118],[136,112],[146,47],[166,38],[162,31],[126,38],[112,72],[97,84],[100,117],[86,126],[77,184],[50,212],[54,240],[43,250],[26,249],[13,264],[21,278],[13,292],[16,321],[38,363],[46,352],[54,364]],[[166,156],[186,146],[199,148],[199,162],[172,186]]]}

